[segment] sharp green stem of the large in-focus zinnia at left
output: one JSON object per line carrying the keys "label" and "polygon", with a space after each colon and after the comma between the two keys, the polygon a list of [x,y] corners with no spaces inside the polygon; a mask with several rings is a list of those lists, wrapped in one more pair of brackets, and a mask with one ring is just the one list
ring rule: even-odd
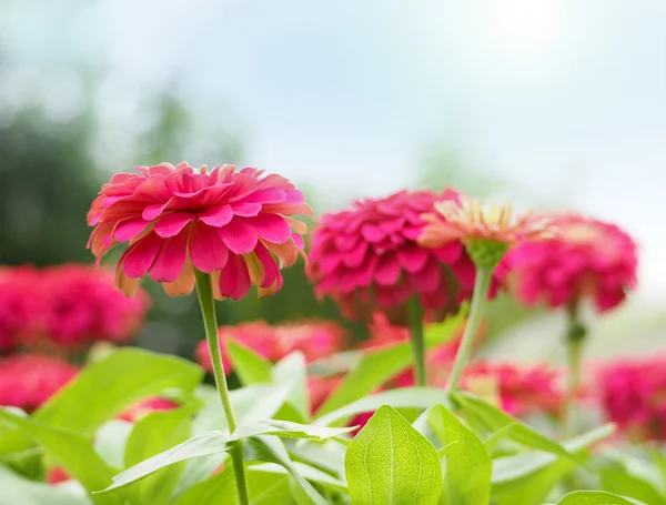
{"label": "sharp green stem of the large in-focus zinnia at left", "polygon": [[[229,398],[229,387],[226,385],[226,376],[222,366],[222,353],[220,350],[220,339],[218,336],[218,317],[215,315],[215,301],[213,299],[213,287],[211,276],[208,273],[194,269],[196,277],[196,294],[199,296],[199,305],[201,306],[201,315],[203,316],[203,325],[205,327],[205,339],[211,352],[211,361],[213,363],[213,375],[215,377],[215,386],[222,402],[229,432],[233,433],[236,428],[235,416]],[[239,504],[249,505],[248,486],[245,485],[245,468],[243,466],[243,446],[242,441],[234,444],[229,450],[229,454],[233,461],[234,476],[236,481],[236,489],[239,494]]]}

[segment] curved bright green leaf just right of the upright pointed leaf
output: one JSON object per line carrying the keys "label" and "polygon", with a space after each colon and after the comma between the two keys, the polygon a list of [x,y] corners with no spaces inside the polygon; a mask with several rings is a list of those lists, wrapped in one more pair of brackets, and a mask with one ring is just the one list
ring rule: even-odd
{"label": "curved bright green leaf just right of the upright pointed leaf", "polygon": [[487,505],[493,462],[481,438],[442,405],[432,407],[428,424],[447,445],[444,503],[448,505]]}

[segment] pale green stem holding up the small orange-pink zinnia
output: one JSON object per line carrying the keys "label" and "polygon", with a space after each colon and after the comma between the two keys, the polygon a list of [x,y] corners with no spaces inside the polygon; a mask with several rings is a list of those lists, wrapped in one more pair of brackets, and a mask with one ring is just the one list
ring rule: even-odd
{"label": "pale green stem holding up the small orange-pink zinnia", "polygon": [[484,266],[476,270],[474,294],[472,295],[470,315],[467,316],[465,333],[463,333],[463,339],[461,340],[461,345],[455,355],[455,361],[453,362],[453,368],[451,370],[448,382],[446,383],[446,393],[453,393],[453,391],[455,391],[455,388],[458,386],[461,376],[465,370],[465,365],[470,360],[472,344],[474,343],[474,337],[476,336],[478,325],[483,320],[483,314],[487,305],[488,290],[491,287],[491,281],[493,280],[494,270],[494,266]]}

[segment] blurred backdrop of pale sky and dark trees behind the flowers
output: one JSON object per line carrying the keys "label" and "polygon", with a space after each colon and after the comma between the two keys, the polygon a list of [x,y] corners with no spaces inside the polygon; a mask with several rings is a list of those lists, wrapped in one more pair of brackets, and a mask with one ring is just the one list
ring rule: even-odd
{"label": "blurred backdrop of pale sky and dark trees behind the flowers", "polygon": [[[101,183],[181,160],[279,172],[317,213],[454,185],[615,222],[639,244],[639,289],[589,354],[664,346],[663,0],[0,3],[0,264],[90,263]],[[337,317],[301,269],[285,286],[220,304],[221,322]],[[138,343],[190,355],[194,299],[147,287]],[[557,314],[505,296],[491,317],[485,352],[561,360]]]}

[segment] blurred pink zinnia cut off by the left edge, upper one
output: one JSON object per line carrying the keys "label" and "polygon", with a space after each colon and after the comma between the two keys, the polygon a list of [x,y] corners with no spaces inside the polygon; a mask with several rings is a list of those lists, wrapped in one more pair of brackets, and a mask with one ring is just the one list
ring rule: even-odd
{"label": "blurred pink zinnia cut off by the left edge, upper one", "polygon": [[0,352],[11,352],[43,331],[39,273],[31,266],[0,269]]}

